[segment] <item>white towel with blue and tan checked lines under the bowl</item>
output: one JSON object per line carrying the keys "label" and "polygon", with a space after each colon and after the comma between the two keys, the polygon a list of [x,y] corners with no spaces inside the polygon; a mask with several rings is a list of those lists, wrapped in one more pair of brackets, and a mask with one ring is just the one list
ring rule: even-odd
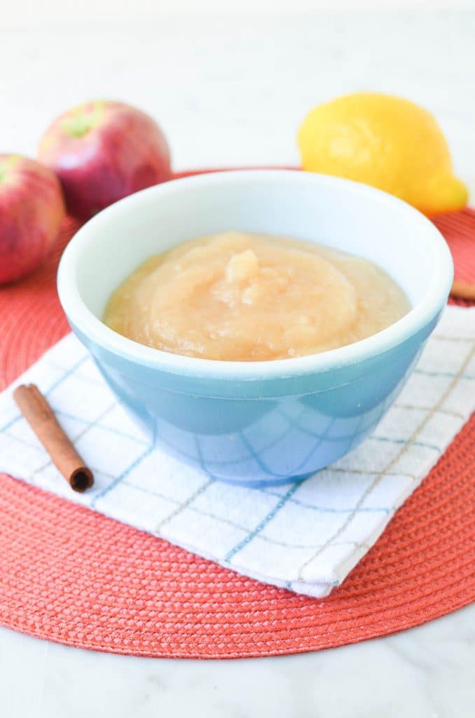
{"label": "white towel with blue and tan checked lines under the bowl", "polygon": [[[93,469],[73,492],[19,414],[36,383]],[[475,308],[448,307],[372,436],[301,482],[249,489],[152,450],[73,335],[0,394],[0,470],[240,574],[324,597],[370,549],[475,408]],[[27,517],[25,517],[27,518]]]}

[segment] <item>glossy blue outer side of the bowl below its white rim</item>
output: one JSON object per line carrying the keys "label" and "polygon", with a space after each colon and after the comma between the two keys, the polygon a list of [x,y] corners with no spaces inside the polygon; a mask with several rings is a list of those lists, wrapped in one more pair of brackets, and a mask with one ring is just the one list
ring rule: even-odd
{"label": "glossy blue outer side of the bowl below its white rim", "polygon": [[73,329],[159,447],[217,479],[262,486],[298,480],[357,447],[400,392],[435,324],[344,371],[273,380],[266,393],[275,396],[265,397],[246,382],[185,388],[181,377],[118,358]]}

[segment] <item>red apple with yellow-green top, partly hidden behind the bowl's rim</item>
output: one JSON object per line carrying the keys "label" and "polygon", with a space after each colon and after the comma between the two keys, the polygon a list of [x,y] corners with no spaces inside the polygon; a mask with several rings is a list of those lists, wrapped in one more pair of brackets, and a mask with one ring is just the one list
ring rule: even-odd
{"label": "red apple with yellow-green top, partly hidden behind the bowl's rim", "polygon": [[60,115],[44,134],[38,159],[60,177],[67,210],[81,220],[171,176],[159,126],[121,102],[88,102]]}

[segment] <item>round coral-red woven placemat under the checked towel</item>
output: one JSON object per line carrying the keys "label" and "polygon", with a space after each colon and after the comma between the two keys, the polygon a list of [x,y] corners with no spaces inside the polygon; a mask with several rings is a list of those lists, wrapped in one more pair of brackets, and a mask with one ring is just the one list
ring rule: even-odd
{"label": "round coral-red woven placemat under the checked towel", "polygon": [[[475,281],[475,212],[440,217],[459,279]],[[0,290],[0,384],[67,332],[60,251]],[[475,418],[329,598],[260,584],[6,475],[0,476],[0,623],[80,648],[237,658],[355,643],[475,600]]]}

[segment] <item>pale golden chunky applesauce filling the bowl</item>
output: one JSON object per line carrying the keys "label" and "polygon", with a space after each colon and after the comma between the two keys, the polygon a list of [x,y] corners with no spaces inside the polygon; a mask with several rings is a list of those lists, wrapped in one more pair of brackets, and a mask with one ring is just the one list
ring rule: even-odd
{"label": "pale golden chunky applesauce filling the bowl", "polygon": [[357,342],[409,310],[403,290],[367,259],[225,232],[149,258],[118,286],[103,321],[166,352],[263,361]]}

